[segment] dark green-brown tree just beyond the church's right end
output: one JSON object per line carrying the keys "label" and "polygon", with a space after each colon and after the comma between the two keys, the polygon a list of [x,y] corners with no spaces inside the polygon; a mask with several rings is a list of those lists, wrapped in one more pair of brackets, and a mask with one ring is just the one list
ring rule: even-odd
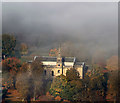
{"label": "dark green-brown tree just beyond the church's right end", "polygon": [[99,65],[93,65],[87,82],[87,94],[90,101],[104,101],[107,90],[108,75],[105,69]]}

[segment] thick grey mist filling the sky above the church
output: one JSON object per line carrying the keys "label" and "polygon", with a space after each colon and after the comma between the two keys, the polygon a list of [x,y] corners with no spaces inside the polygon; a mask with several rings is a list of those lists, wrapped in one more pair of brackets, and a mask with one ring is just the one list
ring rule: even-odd
{"label": "thick grey mist filling the sky above the church", "polygon": [[82,60],[118,51],[117,3],[3,3],[2,17],[2,33],[39,55],[59,44]]}

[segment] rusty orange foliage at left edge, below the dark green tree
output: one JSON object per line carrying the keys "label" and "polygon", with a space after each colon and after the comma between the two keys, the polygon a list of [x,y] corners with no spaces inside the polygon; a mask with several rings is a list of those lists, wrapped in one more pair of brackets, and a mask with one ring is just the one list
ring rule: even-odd
{"label": "rusty orange foliage at left edge, below the dark green tree", "polygon": [[[5,87],[13,86],[14,77],[16,76],[17,72],[20,70],[21,62],[19,59],[12,57],[2,60],[2,71],[3,71],[3,82],[2,84]],[[6,74],[9,73],[6,77]]]}

